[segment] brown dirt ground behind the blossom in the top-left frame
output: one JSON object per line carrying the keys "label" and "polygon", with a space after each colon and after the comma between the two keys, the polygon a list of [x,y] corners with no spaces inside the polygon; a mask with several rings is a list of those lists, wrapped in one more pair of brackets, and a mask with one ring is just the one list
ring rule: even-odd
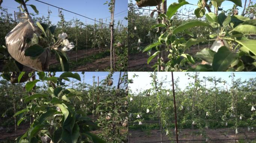
{"label": "brown dirt ground behind the blossom in the top-left frame", "polygon": [[[101,49],[101,51],[105,51],[105,50],[107,50],[107,48]],[[87,52],[86,52],[86,50],[77,50],[77,55],[76,55],[75,50],[68,51],[67,55],[71,61],[71,60],[76,60],[76,57],[77,57],[77,59],[85,58],[86,56],[90,56],[90,55],[93,55],[93,54],[96,54],[99,52],[100,52],[100,50],[98,48],[96,48],[95,51],[94,51],[94,48],[89,48],[87,50]],[[103,70],[110,66],[109,61],[110,61],[110,57],[105,57],[105,58],[97,59],[92,63],[87,63],[83,66],[79,66],[76,69],[70,69],[70,70],[72,70],[72,71]],[[52,64],[60,65],[60,63],[56,60],[55,54],[51,54],[51,60],[50,60],[49,65],[52,65]],[[24,66],[24,71],[30,71],[30,70],[32,70],[32,69]]]}

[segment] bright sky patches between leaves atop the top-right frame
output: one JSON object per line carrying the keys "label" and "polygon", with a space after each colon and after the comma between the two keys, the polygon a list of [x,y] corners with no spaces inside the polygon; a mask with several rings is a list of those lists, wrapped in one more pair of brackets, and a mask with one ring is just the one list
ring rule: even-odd
{"label": "bright sky patches between leaves atop the top-right frame", "polygon": [[[193,11],[197,8],[197,2],[198,0],[186,0],[188,1],[190,4],[194,4],[195,6],[193,5],[185,5],[183,6],[186,7],[187,9],[189,9],[189,7],[191,9],[193,9]],[[135,3],[135,0],[133,0],[133,2]],[[256,3],[256,0],[252,0],[253,3]],[[170,4],[172,3],[178,3],[178,0],[167,0],[167,8]],[[242,0],[242,6],[244,6],[244,3],[245,3],[245,0]],[[247,0],[247,4],[248,5],[249,3],[249,0]],[[223,10],[228,10],[228,9],[231,9],[232,7],[234,6],[234,3],[231,2],[231,1],[224,1],[221,5],[221,8],[223,8]],[[147,9],[148,7],[144,7],[145,9]],[[241,15],[241,13],[243,12],[243,7],[237,7],[238,8],[238,12],[239,12],[239,15]],[[155,9],[155,6],[152,6],[150,7],[150,9]],[[214,7],[211,8],[211,11],[214,12]],[[207,13],[207,12],[206,12]],[[188,13],[185,13],[185,11],[183,12],[184,15],[188,15]]]}

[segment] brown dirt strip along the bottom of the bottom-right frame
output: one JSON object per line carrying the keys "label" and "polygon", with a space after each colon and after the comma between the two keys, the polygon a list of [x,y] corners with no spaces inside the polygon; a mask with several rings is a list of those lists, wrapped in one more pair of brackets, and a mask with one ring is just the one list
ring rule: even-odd
{"label": "brown dirt strip along the bottom of the bottom-right frame", "polygon": [[[192,130],[182,129],[179,131],[179,140],[192,140]],[[129,143],[146,143],[155,142],[161,143],[160,141],[160,131],[150,130],[150,132],[139,131],[139,130],[129,130]],[[176,139],[175,133],[173,131],[173,139]],[[221,129],[207,129],[206,134],[208,136],[209,143],[234,143],[235,140],[220,140],[220,139],[235,139],[234,129],[231,128],[221,128]],[[247,128],[239,128],[237,139],[252,139],[256,138],[256,133],[253,131],[247,131]],[[199,130],[194,130],[194,141],[193,143],[205,142],[205,137],[201,136]],[[217,140],[219,139],[219,140]],[[162,141],[170,140],[165,133],[162,134]],[[215,140],[215,141],[213,141]],[[256,139],[255,139],[256,141]],[[192,141],[179,141],[180,143],[192,143]],[[238,141],[237,141],[238,142]],[[244,140],[244,142],[252,142],[252,140]],[[170,142],[164,142],[170,143]]]}

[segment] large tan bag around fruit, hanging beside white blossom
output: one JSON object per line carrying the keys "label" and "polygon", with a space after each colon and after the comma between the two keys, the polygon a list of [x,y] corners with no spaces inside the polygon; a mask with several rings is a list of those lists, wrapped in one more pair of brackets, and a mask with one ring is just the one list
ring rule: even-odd
{"label": "large tan bag around fruit, hanging beside white blossom", "polygon": [[24,66],[37,71],[47,70],[50,60],[49,49],[46,49],[37,57],[25,56],[25,50],[32,46],[28,41],[34,37],[34,34],[40,36],[40,29],[34,24],[31,16],[27,13],[16,13],[16,15],[20,23],[5,37],[9,54]]}

